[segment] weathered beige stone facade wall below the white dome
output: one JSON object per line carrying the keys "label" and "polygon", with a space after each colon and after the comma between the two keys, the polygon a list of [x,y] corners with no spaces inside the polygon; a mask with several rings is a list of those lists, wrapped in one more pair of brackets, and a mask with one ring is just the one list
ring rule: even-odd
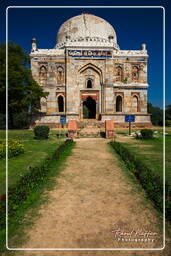
{"label": "weathered beige stone facade wall below the white dome", "polygon": [[[87,96],[92,97],[98,92],[97,111],[105,118],[117,114],[117,96],[122,98],[123,114],[147,114],[147,57],[141,56],[141,51],[117,51],[117,55],[113,51],[112,58],[79,58],[67,53],[65,56],[64,50],[58,52],[57,49],[56,54],[41,51],[44,50],[31,55],[31,66],[33,78],[49,92],[48,97],[41,100],[43,113],[60,114],[58,96],[61,95],[67,120],[79,120],[83,108],[81,95],[87,91]],[[92,88],[87,88],[88,80]],[[123,117],[116,115],[115,119],[123,122]]]}

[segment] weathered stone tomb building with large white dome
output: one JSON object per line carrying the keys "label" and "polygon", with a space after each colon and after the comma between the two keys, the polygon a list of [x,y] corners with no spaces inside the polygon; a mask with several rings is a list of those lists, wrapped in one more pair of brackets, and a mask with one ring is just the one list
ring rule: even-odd
{"label": "weathered stone tomb building with large white dome", "polygon": [[38,49],[32,39],[33,78],[48,92],[36,124],[58,127],[68,120],[114,120],[125,115],[136,125],[150,125],[147,113],[146,45],[120,50],[114,28],[104,19],[83,13],[64,22],[54,49]]}

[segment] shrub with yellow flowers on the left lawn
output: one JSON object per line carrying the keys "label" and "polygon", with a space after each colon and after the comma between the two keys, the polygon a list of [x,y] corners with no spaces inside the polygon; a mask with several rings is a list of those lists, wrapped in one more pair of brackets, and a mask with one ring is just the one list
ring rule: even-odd
{"label": "shrub with yellow flowers on the left lawn", "polygon": [[[16,139],[8,140],[8,158],[24,153],[24,145]],[[0,158],[6,156],[6,140],[0,140]]]}

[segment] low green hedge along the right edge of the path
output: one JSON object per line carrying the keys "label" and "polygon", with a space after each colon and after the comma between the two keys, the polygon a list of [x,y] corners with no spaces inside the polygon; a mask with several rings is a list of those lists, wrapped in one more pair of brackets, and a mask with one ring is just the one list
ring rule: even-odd
{"label": "low green hedge along the right edge of the path", "polygon": [[[110,142],[111,146],[125,162],[128,169],[134,173],[142,187],[147,192],[148,197],[154,202],[155,206],[163,211],[163,179],[158,174],[147,167],[143,161],[132,154],[122,143]],[[166,181],[166,218],[171,221],[171,188]]]}

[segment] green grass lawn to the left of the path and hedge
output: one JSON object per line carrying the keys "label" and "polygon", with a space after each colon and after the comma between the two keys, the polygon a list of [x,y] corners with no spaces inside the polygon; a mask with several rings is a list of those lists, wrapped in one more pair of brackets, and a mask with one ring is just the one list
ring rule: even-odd
{"label": "green grass lawn to the left of the path and hedge", "polygon": [[[57,139],[56,131],[51,130],[47,140],[35,140],[32,130],[10,130],[9,138],[21,140],[24,144],[24,154],[12,157],[8,161],[9,187],[20,177],[29,172],[29,168],[40,165],[62,142]],[[5,138],[5,131],[0,130],[0,138]],[[5,159],[0,160],[0,194],[5,192]]]}

